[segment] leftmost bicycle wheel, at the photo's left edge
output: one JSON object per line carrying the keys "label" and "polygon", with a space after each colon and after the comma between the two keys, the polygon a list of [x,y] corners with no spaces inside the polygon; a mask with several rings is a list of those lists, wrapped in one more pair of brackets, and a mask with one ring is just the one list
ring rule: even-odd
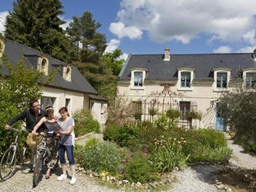
{"label": "leftmost bicycle wheel, at the photo's left edge", "polygon": [[0,163],[0,178],[3,181],[6,181],[12,176],[16,166],[16,160],[16,151],[14,151],[13,147],[8,148]]}

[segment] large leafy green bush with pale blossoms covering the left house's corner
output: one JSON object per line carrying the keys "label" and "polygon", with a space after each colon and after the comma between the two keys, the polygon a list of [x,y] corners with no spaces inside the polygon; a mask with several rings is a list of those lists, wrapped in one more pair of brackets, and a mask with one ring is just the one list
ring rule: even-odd
{"label": "large leafy green bush with pale blossoms covering the left house's corner", "polygon": [[[9,71],[9,75],[0,76],[0,127],[4,127],[11,118],[23,112],[28,108],[31,100],[39,99],[41,97],[41,84],[47,83],[52,79],[50,75],[43,80],[43,74],[34,70],[33,68],[26,68],[24,61],[20,61],[17,65],[12,66],[7,63],[0,63],[0,68],[5,67]],[[22,122],[17,122],[14,127],[20,128]],[[0,129],[1,145],[0,155],[9,146],[10,135],[13,133]],[[20,144],[25,140],[25,136],[20,138]]]}

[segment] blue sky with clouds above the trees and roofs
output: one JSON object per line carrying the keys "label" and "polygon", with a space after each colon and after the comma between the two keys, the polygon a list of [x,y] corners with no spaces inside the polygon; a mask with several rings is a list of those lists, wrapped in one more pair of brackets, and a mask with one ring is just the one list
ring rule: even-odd
{"label": "blue sky with clouds above the trees and roofs", "polygon": [[[66,24],[92,12],[106,52],[128,54],[251,53],[256,48],[255,0],[60,0]],[[12,0],[1,0],[0,31]]]}

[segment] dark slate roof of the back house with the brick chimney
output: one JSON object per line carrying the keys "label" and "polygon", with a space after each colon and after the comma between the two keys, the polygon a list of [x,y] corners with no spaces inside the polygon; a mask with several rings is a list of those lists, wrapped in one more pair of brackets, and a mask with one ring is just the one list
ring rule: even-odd
{"label": "dark slate roof of the back house with the brick chimney", "polygon": [[215,68],[231,68],[231,78],[241,69],[256,68],[253,53],[171,54],[169,61],[163,54],[129,55],[119,74],[119,80],[130,80],[133,68],[148,70],[145,80],[177,80],[179,68],[195,69],[194,80],[214,80]]}

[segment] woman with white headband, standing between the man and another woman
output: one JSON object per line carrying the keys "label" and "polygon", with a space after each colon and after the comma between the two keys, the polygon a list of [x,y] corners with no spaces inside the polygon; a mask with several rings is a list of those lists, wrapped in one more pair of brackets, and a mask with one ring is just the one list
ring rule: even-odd
{"label": "woman with white headband, standing between the man and another woman", "polygon": [[[41,126],[42,123],[45,123],[47,127],[47,136],[50,138],[47,139],[47,144],[51,148],[51,155],[48,163],[48,169],[46,171],[46,179],[50,178],[50,172],[53,166],[56,163],[56,155],[57,155],[57,146],[58,146],[58,139],[56,139],[56,134],[54,130],[60,130],[60,126],[54,117],[54,110],[52,106],[47,106],[46,113],[48,117],[42,117],[40,121],[35,125],[32,133],[36,133],[37,129]],[[38,146],[40,148],[40,144]]]}

